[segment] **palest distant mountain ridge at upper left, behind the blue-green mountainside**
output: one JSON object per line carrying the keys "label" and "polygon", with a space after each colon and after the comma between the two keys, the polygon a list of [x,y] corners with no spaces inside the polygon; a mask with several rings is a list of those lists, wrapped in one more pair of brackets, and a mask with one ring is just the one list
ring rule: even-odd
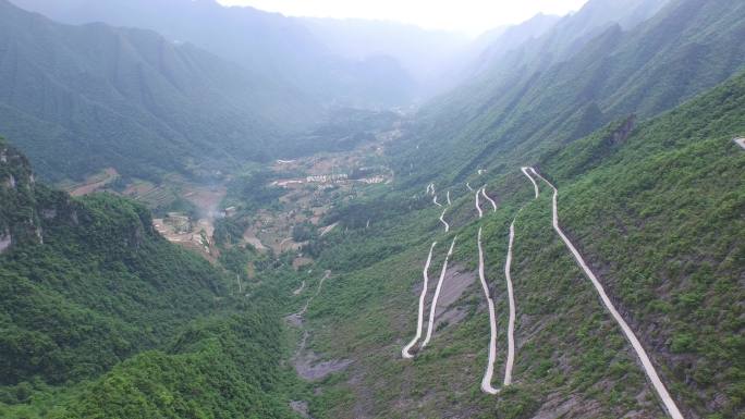
{"label": "palest distant mountain ridge at upper left, behind the blue-green mountainside", "polygon": [[[15,0],[64,23],[105,22],[188,41],[266,78],[293,86],[325,106],[406,104],[414,88],[401,63],[382,52],[355,59],[334,53],[304,23],[213,0]],[[168,19],[164,19],[168,16]],[[381,77],[395,88],[389,88]]]}

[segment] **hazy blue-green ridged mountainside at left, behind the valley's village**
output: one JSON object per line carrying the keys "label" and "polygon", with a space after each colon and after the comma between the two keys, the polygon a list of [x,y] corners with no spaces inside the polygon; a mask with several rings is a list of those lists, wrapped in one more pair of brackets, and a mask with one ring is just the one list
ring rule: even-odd
{"label": "hazy blue-green ridged mountainside at left, behind the valley's village", "polygon": [[0,133],[47,178],[205,176],[308,126],[302,94],[141,29],[69,26],[0,0]]}

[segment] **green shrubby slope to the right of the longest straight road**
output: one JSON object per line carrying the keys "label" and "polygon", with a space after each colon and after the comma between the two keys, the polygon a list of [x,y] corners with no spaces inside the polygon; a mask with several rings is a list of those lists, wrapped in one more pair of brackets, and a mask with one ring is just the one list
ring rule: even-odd
{"label": "green shrubby slope to the right of the longest straight road", "polygon": [[745,408],[745,156],[732,141],[745,132],[743,98],[740,75],[621,144],[589,137],[542,163],[562,189],[560,217],[608,288],[634,322],[657,324],[644,337],[669,349],[659,357],[686,383],[673,387],[680,398],[703,405],[717,394],[728,417]]}

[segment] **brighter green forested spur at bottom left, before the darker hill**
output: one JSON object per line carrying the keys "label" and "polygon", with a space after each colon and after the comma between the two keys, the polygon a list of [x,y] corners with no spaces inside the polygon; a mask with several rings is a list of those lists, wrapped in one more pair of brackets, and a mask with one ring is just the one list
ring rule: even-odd
{"label": "brighter green forested spur at bottom left, before the darker hill", "polygon": [[52,418],[291,418],[277,386],[279,318],[268,307],[206,319],[163,350],[122,362]]}

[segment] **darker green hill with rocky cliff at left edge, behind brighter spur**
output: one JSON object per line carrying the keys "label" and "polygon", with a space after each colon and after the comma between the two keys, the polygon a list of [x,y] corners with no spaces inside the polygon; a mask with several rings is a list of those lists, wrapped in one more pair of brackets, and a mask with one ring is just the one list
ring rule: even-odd
{"label": "darker green hill with rocky cliff at left edge, behind brighter spur", "polygon": [[0,156],[3,385],[100,373],[224,293],[220,274],[163,241],[145,208],[74,200],[37,184],[4,141]]}

